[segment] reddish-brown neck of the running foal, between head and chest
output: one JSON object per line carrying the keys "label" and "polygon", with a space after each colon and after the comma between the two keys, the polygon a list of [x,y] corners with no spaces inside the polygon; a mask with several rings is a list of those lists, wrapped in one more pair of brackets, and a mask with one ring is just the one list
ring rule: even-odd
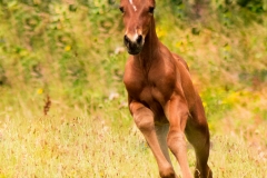
{"label": "reddish-brown neck of the running foal, between head and chest", "polygon": [[148,34],[145,38],[142,51],[139,55],[135,56],[140,61],[142,68],[149,70],[152,61],[155,60],[155,57],[157,56],[159,40],[156,33],[155,20],[152,19]]}

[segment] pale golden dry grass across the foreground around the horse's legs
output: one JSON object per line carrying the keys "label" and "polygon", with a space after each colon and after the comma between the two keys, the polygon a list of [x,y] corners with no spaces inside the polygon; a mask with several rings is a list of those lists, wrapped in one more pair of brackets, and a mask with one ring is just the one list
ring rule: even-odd
{"label": "pale golden dry grass across the foreground around the horse's legs", "polygon": [[[23,100],[27,98],[22,99],[18,95],[19,105],[14,107],[20,109],[14,111],[10,106],[1,106],[6,109],[1,112],[0,122],[0,176],[157,178],[154,156],[134,126],[128,109],[121,108],[118,102],[121,97],[107,100],[101,108],[89,112],[87,108],[80,107],[56,109],[61,106],[58,101],[51,105],[49,115],[43,116],[42,107],[32,107],[26,111]],[[236,117],[233,113],[229,116]],[[266,150],[249,145],[235,131],[234,126],[224,123],[226,120],[220,122],[221,126],[215,126],[227,129],[220,130],[224,135],[218,130],[211,137],[209,165],[214,176],[265,178]],[[257,138],[265,139],[264,134],[263,125],[258,128],[257,135],[260,136]],[[194,170],[195,155],[191,147],[188,157]],[[172,161],[179,172],[174,157]]]}

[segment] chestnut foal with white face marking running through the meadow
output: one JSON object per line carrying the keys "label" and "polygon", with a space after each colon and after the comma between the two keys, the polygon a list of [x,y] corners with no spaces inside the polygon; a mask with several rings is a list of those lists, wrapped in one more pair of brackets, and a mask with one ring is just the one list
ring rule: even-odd
{"label": "chestnut foal with white face marking running through the meadow", "polygon": [[187,63],[157,38],[155,0],[121,0],[123,42],[130,55],[123,82],[134,120],[157,160],[160,177],[177,177],[168,148],[184,178],[191,178],[186,138],[196,152],[195,177],[211,178],[209,129],[201,99],[192,86]]}

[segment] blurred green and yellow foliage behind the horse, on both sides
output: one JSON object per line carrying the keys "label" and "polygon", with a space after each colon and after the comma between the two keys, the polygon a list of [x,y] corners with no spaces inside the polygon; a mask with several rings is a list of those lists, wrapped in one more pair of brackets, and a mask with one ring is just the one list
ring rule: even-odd
{"label": "blurred green and yellow foliage behind the horse, on both sides", "polygon": [[[82,105],[82,98],[88,98],[87,101],[95,100],[90,101],[93,108],[110,92],[125,95],[121,80],[127,55],[118,38],[122,29],[117,20],[118,2],[2,0],[0,3],[1,86],[32,85],[46,93],[60,87],[62,97],[70,102]],[[212,1],[204,7],[205,17],[188,20],[186,9],[194,11],[195,3],[200,1],[158,2],[157,33],[172,51],[185,57],[198,82],[206,85],[200,92],[208,116],[212,117],[216,108],[221,108],[222,115],[238,103],[226,101],[225,97],[241,88],[260,89],[266,85],[265,16],[238,8],[239,4],[264,7],[264,2],[249,1],[245,6],[240,1]],[[172,11],[167,13],[169,9]],[[210,85],[214,81],[216,86]]]}

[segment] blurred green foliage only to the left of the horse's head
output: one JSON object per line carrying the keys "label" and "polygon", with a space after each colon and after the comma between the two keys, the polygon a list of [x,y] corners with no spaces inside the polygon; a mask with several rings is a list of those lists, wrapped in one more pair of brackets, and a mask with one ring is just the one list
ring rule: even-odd
{"label": "blurred green foliage only to the left of the horse's head", "polygon": [[[105,34],[117,31],[113,8],[112,1],[1,1],[1,80],[4,76],[4,82],[14,86],[37,82],[47,89],[59,80],[72,88],[66,92],[75,91],[70,96],[80,96],[85,88],[96,90],[95,81],[102,77],[91,73],[111,75],[101,63],[107,63],[113,51],[100,47],[117,40]],[[7,76],[9,68],[16,70]],[[118,70],[122,69],[116,68],[112,72],[121,76]]]}

